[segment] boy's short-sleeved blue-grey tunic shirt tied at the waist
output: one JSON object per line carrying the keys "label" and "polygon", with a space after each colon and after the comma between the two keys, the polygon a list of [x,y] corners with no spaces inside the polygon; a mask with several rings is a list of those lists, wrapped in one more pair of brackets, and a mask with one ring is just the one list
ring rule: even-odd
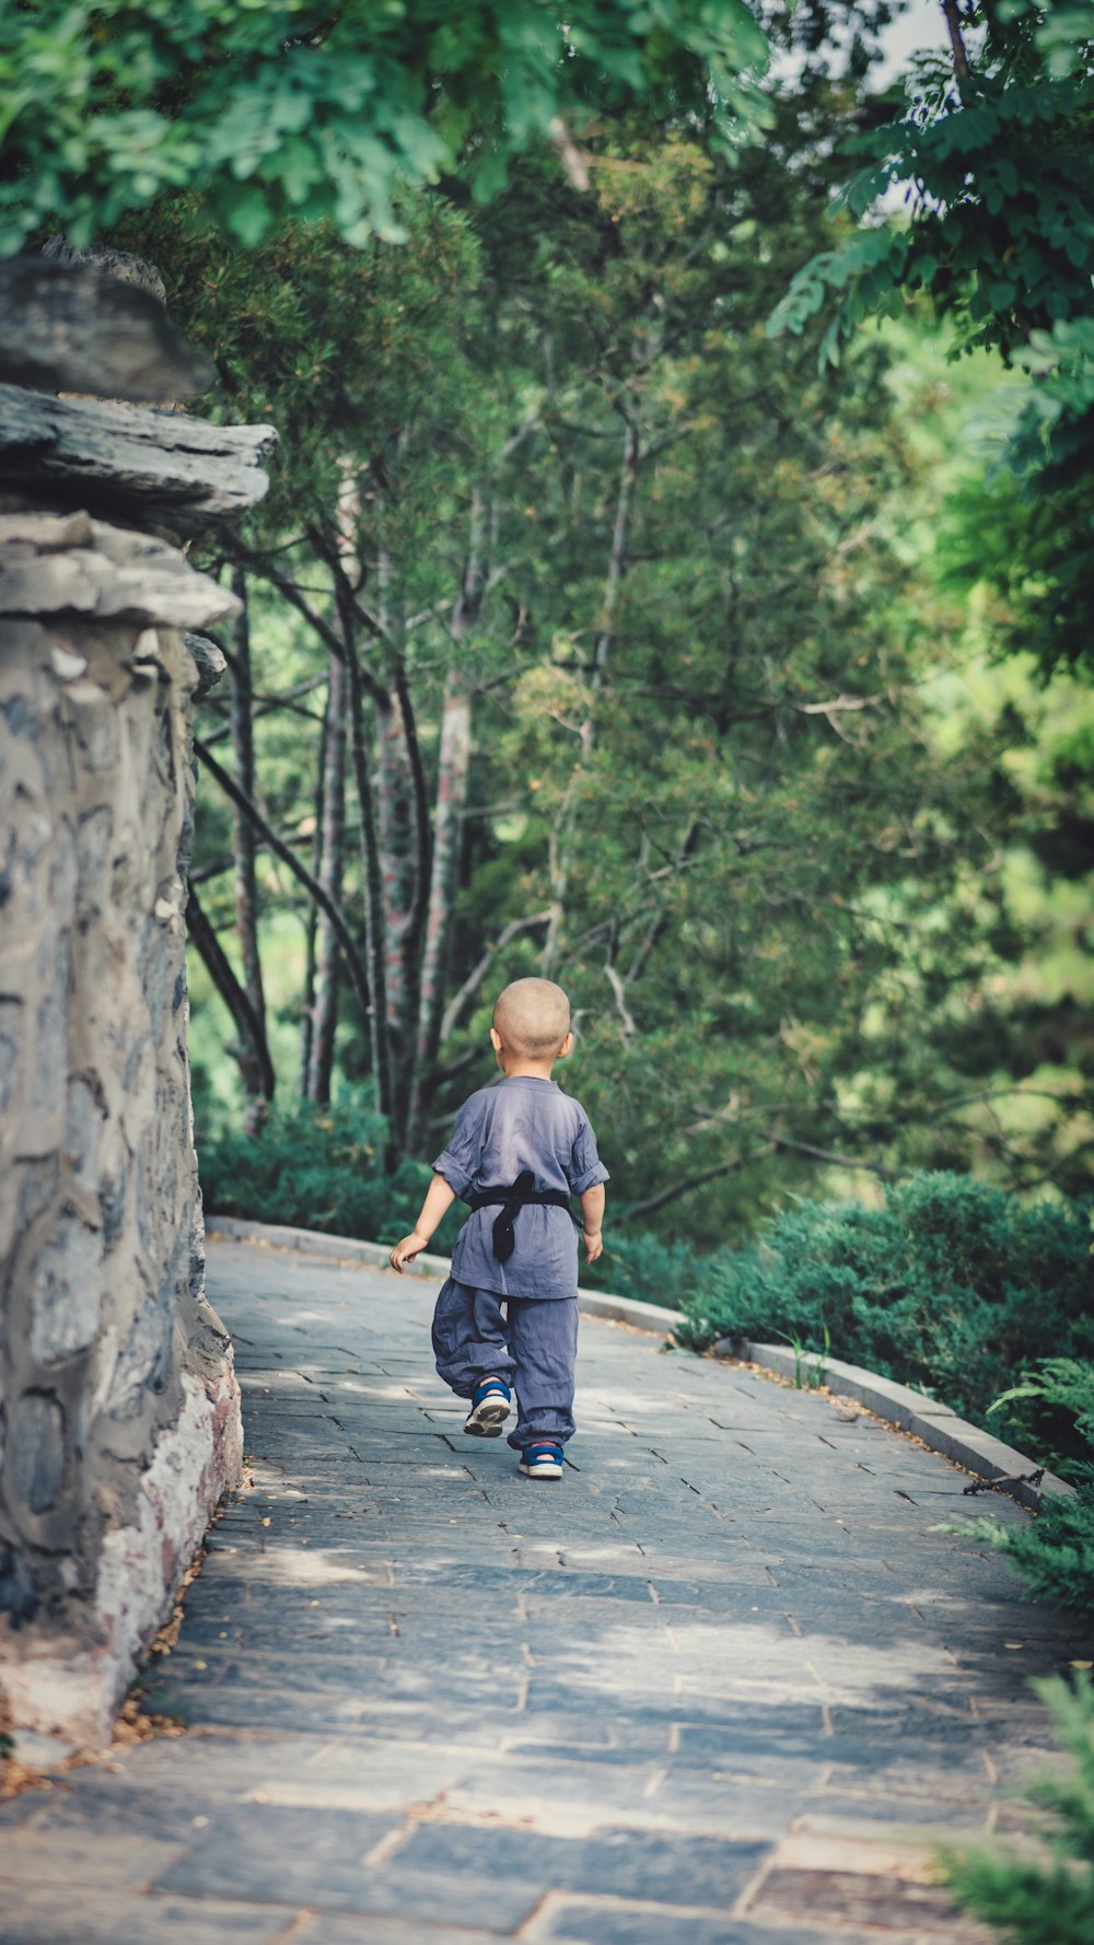
{"label": "boy's short-sleeved blue-grey tunic shirt tied at the waist", "polygon": [[[535,1188],[565,1188],[574,1196],[609,1179],[580,1101],[565,1095],[559,1081],[533,1074],[514,1074],[473,1093],[434,1169],[463,1200],[479,1188],[508,1188],[522,1169],[531,1169]],[[508,1262],[494,1256],[498,1214],[492,1206],[471,1210],[452,1251],[454,1280],[502,1297],[576,1297],[578,1237],[568,1210],[524,1204]]]}

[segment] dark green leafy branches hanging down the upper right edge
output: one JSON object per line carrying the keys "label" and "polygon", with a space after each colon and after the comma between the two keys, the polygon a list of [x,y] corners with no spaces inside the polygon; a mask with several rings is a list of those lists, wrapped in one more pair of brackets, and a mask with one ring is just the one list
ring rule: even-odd
{"label": "dark green leafy branches hanging down the upper right edge", "polygon": [[[989,482],[958,525],[1049,671],[1088,654],[1094,609],[1094,10],[942,12],[948,53],[919,58],[890,97],[897,117],[847,144],[866,161],[841,191],[845,233],[794,274],[769,329],[831,311],[821,358],[837,360],[864,319],[923,294],[954,356],[999,350],[1028,373],[1003,451],[1022,492]],[[880,220],[897,191],[903,216]]]}

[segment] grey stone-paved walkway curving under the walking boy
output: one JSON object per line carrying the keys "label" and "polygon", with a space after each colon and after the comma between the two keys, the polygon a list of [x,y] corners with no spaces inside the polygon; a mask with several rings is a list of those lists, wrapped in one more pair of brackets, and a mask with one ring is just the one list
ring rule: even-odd
{"label": "grey stone-paved walkway curving under the walking boy", "polygon": [[[1076,1651],[930,1531],[964,1474],[582,1321],[563,1484],[461,1433],[432,1286],[210,1251],[253,1488],[150,1704],[0,1817],[2,1945],[962,1945],[923,1863],[1014,1822]],[[993,1500],[1006,1519],[1026,1515]]]}

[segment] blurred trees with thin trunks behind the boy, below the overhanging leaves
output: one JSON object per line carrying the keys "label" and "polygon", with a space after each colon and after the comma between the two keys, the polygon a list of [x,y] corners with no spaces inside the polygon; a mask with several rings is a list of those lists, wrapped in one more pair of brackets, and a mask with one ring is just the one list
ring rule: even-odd
{"label": "blurred trees with thin trunks behind the boy, below the overhanging leaves", "polygon": [[202,743],[259,819],[210,770],[212,1206],[241,1200],[220,1138],[300,1144],[294,1103],[378,1111],[380,1175],[428,1161],[529,971],[572,994],[617,1235],[712,1249],[915,1169],[1086,1190],[1094,716],[1045,547],[1084,527],[1088,613],[1090,486],[1006,465],[1039,381],[1012,319],[969,329],[979,265],[952,303],[890,266],[835,366],[800,301],[818,243],[911,261],[934,222],[833,212],[849,152],[983,107],[942,12],[876,91],[886,21],[771,12],[765,126],[613,103],[580,181],[531,140],[485,210],[457,175],[393,191],[399,245],[319,220],[241,249],[193,191],[115,226],[216,360],[202,408],[280,434],[206,562],[247,617]]}

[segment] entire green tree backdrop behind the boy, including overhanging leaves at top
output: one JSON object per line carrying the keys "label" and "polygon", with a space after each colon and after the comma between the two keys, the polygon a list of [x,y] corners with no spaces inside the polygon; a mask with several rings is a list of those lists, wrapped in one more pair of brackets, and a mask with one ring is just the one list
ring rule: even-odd
{"label": "entire green tree backdrop behind the boy, including overhanging leaves at top", "polygon": [[533,971],[607,1280],[1088,1192],[1094,14],[899,19],[4,16],[8,243],[152,259],[280,438],[202,556],[212,1208],[401,1229]]}

